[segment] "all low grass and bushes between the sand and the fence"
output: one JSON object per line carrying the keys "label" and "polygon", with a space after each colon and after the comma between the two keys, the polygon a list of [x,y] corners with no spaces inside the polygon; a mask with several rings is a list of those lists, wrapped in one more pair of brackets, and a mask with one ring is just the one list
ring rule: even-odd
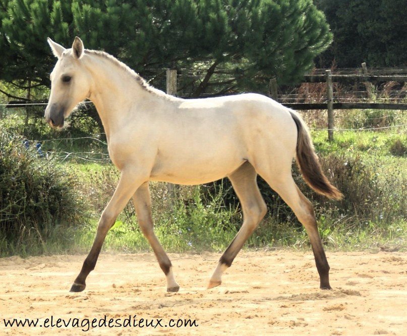
{"label": "all low grass and bushes between the sand and the fence", "polygon": [[[351,115],[356,115],[357,120],[362,118],[360,114],[370,115],[369,111],[349,113],[346,122],[352,121]],[[393,112],[384,113],[392,115]],[[15,119],[19,118],[22,117],[12,118],[17,125],[19,122]],[[395,119],[398,124],[405,123],[402,112]],[[394,120],[391,125],[394,125]],[[0,127],[10,122],[10,118],[6,118],[0,122]],[[40,132],[42,127],[31,126],[39,128],[31,129],[31,133]],[[319,196],[305,184],[293,165],[296,182],[314,204],[327,248],[406,249],[407,137],[400,129],[337,131],[332,143],[326,140],[326,131],[312,131],[325,173],[345,194],[342,201],[330,201]],[[60,160],[46,160],[38,158],[34,150],[27,151],[22,145],[24,138],[3,130],[2,135],[0,185],[4,190],[0,207],[3,230],[0,254],[87,252],[100,213],[119,178],[118,171],[108,160],[93,160],[106,153],[105,144],[96,137],[87,138],[83,145],[86,149],[83,149],[75,141],[53,140],[52,155]],[[80,137],[80,133],[68,128],[59,136],[73,139]],[[65,154],[89,152],[89,148],[93,151],[88,157],[91,161]],[[13,163],[12,158],[15,160]],[[59,163],[61,159],[63,164]],[[39,171],[38,177],[34,176],[34,169]],[[23,183],[25,180],[29,182]],[[50,187],[49,183],[56,185]],[[27,191],[27,185],[34,184],[33,190],[42,195],[35,201]],[[260,178],[259,184],[269,212],[246,247],[309,248],[306,232],[292,211]],[[22,185],[25,187],[22,188]],[[239,201],[226,179],[204,186],[181,186],[175,199],[168,194],[165,183],[151,183],[150,188],[155,232],[168,251],[222,251],[241,226]],[[43,195],[42,189],[60,194]],[[10,190],[13,193],[23,192],[23,196],[7,200],[5,197],[9,197]],[[10,211],[9,205],[17,204],[20,210]],[[47,207],[56,206],[61,208],[47,210]],[[9,214],[14,218],[6,222],[5,216]],[[17,218],[18,215],[20,218]],[[12,232],[12,239],[7,232]],[[150,250],[138,228],[131,202],[109,232],[103,248],[105,251],[126,252]]]}

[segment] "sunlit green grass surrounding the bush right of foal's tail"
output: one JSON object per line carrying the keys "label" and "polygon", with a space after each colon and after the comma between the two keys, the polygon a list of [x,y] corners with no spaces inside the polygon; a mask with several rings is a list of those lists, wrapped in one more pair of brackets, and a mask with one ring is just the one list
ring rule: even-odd
{"label": "sunlit green grass surrounding the bush right of foal's tail", "polygon": [[[405,121],[405,120],[404,120]],[[319,216],[320,233],[327,246],[350,249],[407,249],[407,135],[405,130],[340,131],[335,141],[328,143],[322,131],[312,132],[316,150],[321,155],[341,153],[359,158],[372,173],[377,200],[366,204],[374,207],[375,216],[354,214],[343,219],[335,216],[337,225],[326,223]],[[371,214],[374,212],[372,211]],[[348,222],[348,223],[346,223]]]}

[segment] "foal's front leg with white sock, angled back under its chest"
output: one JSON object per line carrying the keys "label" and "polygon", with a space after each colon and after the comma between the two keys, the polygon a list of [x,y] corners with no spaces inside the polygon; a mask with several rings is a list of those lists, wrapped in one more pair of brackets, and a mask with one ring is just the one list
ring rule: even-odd
{"label": "foal's front leg with white sock, angled back under its chest", "polygon": [[167,292],[178,292],[180,286],[177,284],[173,276],[171,261],[154,234],[148,182],[145,182],[137,189],[133,196],[133,201],[140,229],[150,243],[155,256],[157,257],[158,264],[167,278]]}

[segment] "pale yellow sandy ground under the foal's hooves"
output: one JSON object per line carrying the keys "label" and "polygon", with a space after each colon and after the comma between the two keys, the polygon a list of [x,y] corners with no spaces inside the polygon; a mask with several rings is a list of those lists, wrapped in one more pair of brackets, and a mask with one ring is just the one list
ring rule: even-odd
{"label": "pale yellow sandy ground under the foal's hooves", "polygon": [[[407,255],[327,254],[332,291],[311,252],[242,251],[211,290],[220,254],[170,254],[178,293],[149,253],[101,255],[82,293],[68,291],[85,256],[3,258],[0,334],[407,334]],[[37,326],[5,325],[26,318]]]}

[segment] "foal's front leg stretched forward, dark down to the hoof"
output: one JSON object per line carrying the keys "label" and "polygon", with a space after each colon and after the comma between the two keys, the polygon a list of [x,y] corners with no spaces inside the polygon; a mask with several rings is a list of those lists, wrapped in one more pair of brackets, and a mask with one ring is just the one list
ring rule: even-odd
{"label": "foal's front leg stretched forward, dark down to the hoof", "polygon": [[81,272],[71,287],[71,292],[82,292],[85,289],[86,278],[95,268],[107,232],[113,226],[116,218],[122,212],[129,199],[144,181],[145,179],[141,179],[140,175],[135,172],[122,171],[119,184],[100,217],[95,241],[83,262]]}

